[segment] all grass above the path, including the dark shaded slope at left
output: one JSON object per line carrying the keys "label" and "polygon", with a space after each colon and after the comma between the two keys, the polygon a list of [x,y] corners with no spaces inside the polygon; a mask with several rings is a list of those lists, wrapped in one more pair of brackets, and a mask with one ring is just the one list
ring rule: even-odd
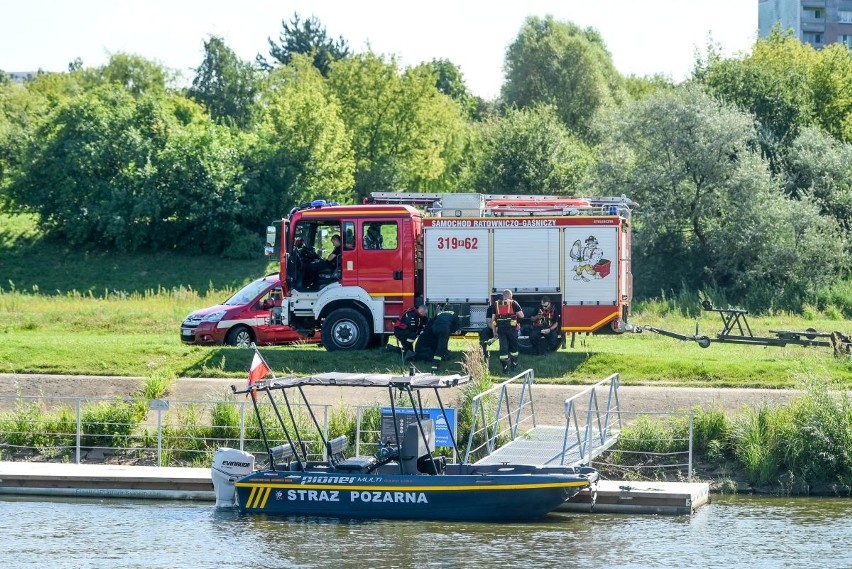
{"label": "all grass above the path, including the dark shaded slope at left", "polygon": [[[179,326],[191,311],[223,300],[271,268],[274,264],[260,255],[239,262],[77,253],[42,241],[31,216],[0,214],[0,373],[245,377],[249,350],[185,346]],[[695,320],[681,315],[682,305],[637,303],[640,311],[632,321],[692,334]],[[838,318],[836,310],[814,307],[802,316],[775,314],[750,322],[755,335],[809,327],[852,333],[850,323]],[[701,313],[698,322],[711,338],[721,329],[712,313]],[[451,342],[453,363],[447,371],[463,371],[469,342]],[[267,348],[264,355],[276,373],[402,369],[399,356],[382,349],[329,353],[302,345]],[[496,359],[490,371],[499,376]],[[713,343],[701,349],[647,332],[578,336],[573,348],[522,356],[521,367],[533,367],[538,378],[555,383],[589,383],[617,372],[633,385],[794,387],[797,375],[819,370],[852,385],[852,362],[835,360],[829,348]]]}

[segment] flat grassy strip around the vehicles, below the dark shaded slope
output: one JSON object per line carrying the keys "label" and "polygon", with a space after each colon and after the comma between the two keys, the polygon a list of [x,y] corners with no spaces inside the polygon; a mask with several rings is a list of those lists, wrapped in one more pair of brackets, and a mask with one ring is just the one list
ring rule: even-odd
{"label": "flat grassy strip around the vehicles, below the dark shaded slope", "polygon": [[[152,371],[188,377],[241,377],[249,350],[185,346],[179,325],[193,309],[225,298],[230,289],[199,293],[189,288],[141,293],[66,293],[44,295],[0,290],[0,372],[65,373],[145,376]],[[646,304],[634,321],[683,333],[695,330],[695,320]],[[699,318],[702,333],[720,329],[712,314]],[[819,315],[752,318],[755,334],[769,329],[841,329],[848,322]],[[844,330],[849,333],[849,330]],[[472,340],[469,340],[472,341]],[[466,346],[453,340],[448,371],[461,371]],[[399,358],[381,349],[329,353],[314,345],[266,348],[277,371],[386,372],[400,369]],[[522,365],[536,370],[542,381],[586,383],[611,373],[625,384],[795,387],[803,372],[817,370],[852,385],[852,362],[836,360],[829,348],[801,346],[755,347],[713,344],[707,349],[650,333],[578,336],[573,348],[543,357],[523,357]],[[496,362],[491,371],[497,372]]]}

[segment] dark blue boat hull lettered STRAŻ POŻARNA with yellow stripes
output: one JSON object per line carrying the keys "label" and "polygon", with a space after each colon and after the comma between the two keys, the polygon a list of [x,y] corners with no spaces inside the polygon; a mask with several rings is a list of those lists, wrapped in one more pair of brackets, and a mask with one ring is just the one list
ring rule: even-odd
{"label": "dark blue boat hull lettered STRA\u017b PO\u017bARNA with yellow stripes", "polygon": [[576,474],[402,475],[261,470],[236,483],[241,512],[410,520],[541,518],[588,487]]}

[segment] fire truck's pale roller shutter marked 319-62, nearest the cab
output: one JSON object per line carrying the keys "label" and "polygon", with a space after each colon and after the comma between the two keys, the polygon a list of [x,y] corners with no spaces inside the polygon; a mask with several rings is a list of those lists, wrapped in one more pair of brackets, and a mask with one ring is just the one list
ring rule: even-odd
{"label": "fire truck's pale roller shutter marked 319-62, nearest the cab", "polygon": [[487,229],[427,228],[426,302],[488,303]]}

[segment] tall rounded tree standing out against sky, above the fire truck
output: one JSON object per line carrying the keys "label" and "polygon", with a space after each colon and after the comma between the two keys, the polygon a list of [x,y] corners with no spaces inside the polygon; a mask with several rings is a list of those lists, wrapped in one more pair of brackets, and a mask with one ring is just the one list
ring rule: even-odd
{"label": "tall rounded tree standing out against sky, above the fire truck", "polygon": [[505,102],[553,105],[565,125],[585,137],[595,112],[623,98],[621,77],[595,30],[527,18],[506,51]]}

